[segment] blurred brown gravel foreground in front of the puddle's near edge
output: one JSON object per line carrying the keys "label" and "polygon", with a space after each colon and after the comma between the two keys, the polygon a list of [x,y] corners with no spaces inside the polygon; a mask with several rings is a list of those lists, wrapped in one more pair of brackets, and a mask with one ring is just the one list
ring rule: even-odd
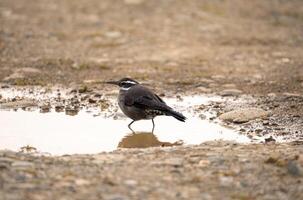
{"label": "blurred brown gravel foreground in front of the puddle's near edge", "polygon": [[120,149],[33,156],[0,151],[2,199],[302,199],[302,143]]}

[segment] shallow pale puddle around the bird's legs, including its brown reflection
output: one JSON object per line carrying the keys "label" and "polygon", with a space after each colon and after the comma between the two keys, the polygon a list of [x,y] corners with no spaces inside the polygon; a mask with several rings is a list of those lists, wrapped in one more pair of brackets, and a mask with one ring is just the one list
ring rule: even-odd
{"label": "shallow pale puddle around the bird's legs, including its brown reflection", "polygon": [[[114,99],[111,101],[116,108]],[[196,112],[200,105],[220,101],[219,97],[192,96],[182,100],[166,98],[165,101],[188,120],[182,123],[172,117],[156,117],[154,134],[150,133],[150,120],[135,122],[132,128],[136,134],[132,134],[127,127],[130,119],[119,111],[103,111],[98,107],[83,108],[73,116],[55,112],[54,108],[46,113],[39,109],[0,110],[0,149],[63,155],[98,153],[117,148],[200,144],[211,140],[251,141],[219,122],[209,120],[213,113],[203,112],[201,118],[201,112]]]}

